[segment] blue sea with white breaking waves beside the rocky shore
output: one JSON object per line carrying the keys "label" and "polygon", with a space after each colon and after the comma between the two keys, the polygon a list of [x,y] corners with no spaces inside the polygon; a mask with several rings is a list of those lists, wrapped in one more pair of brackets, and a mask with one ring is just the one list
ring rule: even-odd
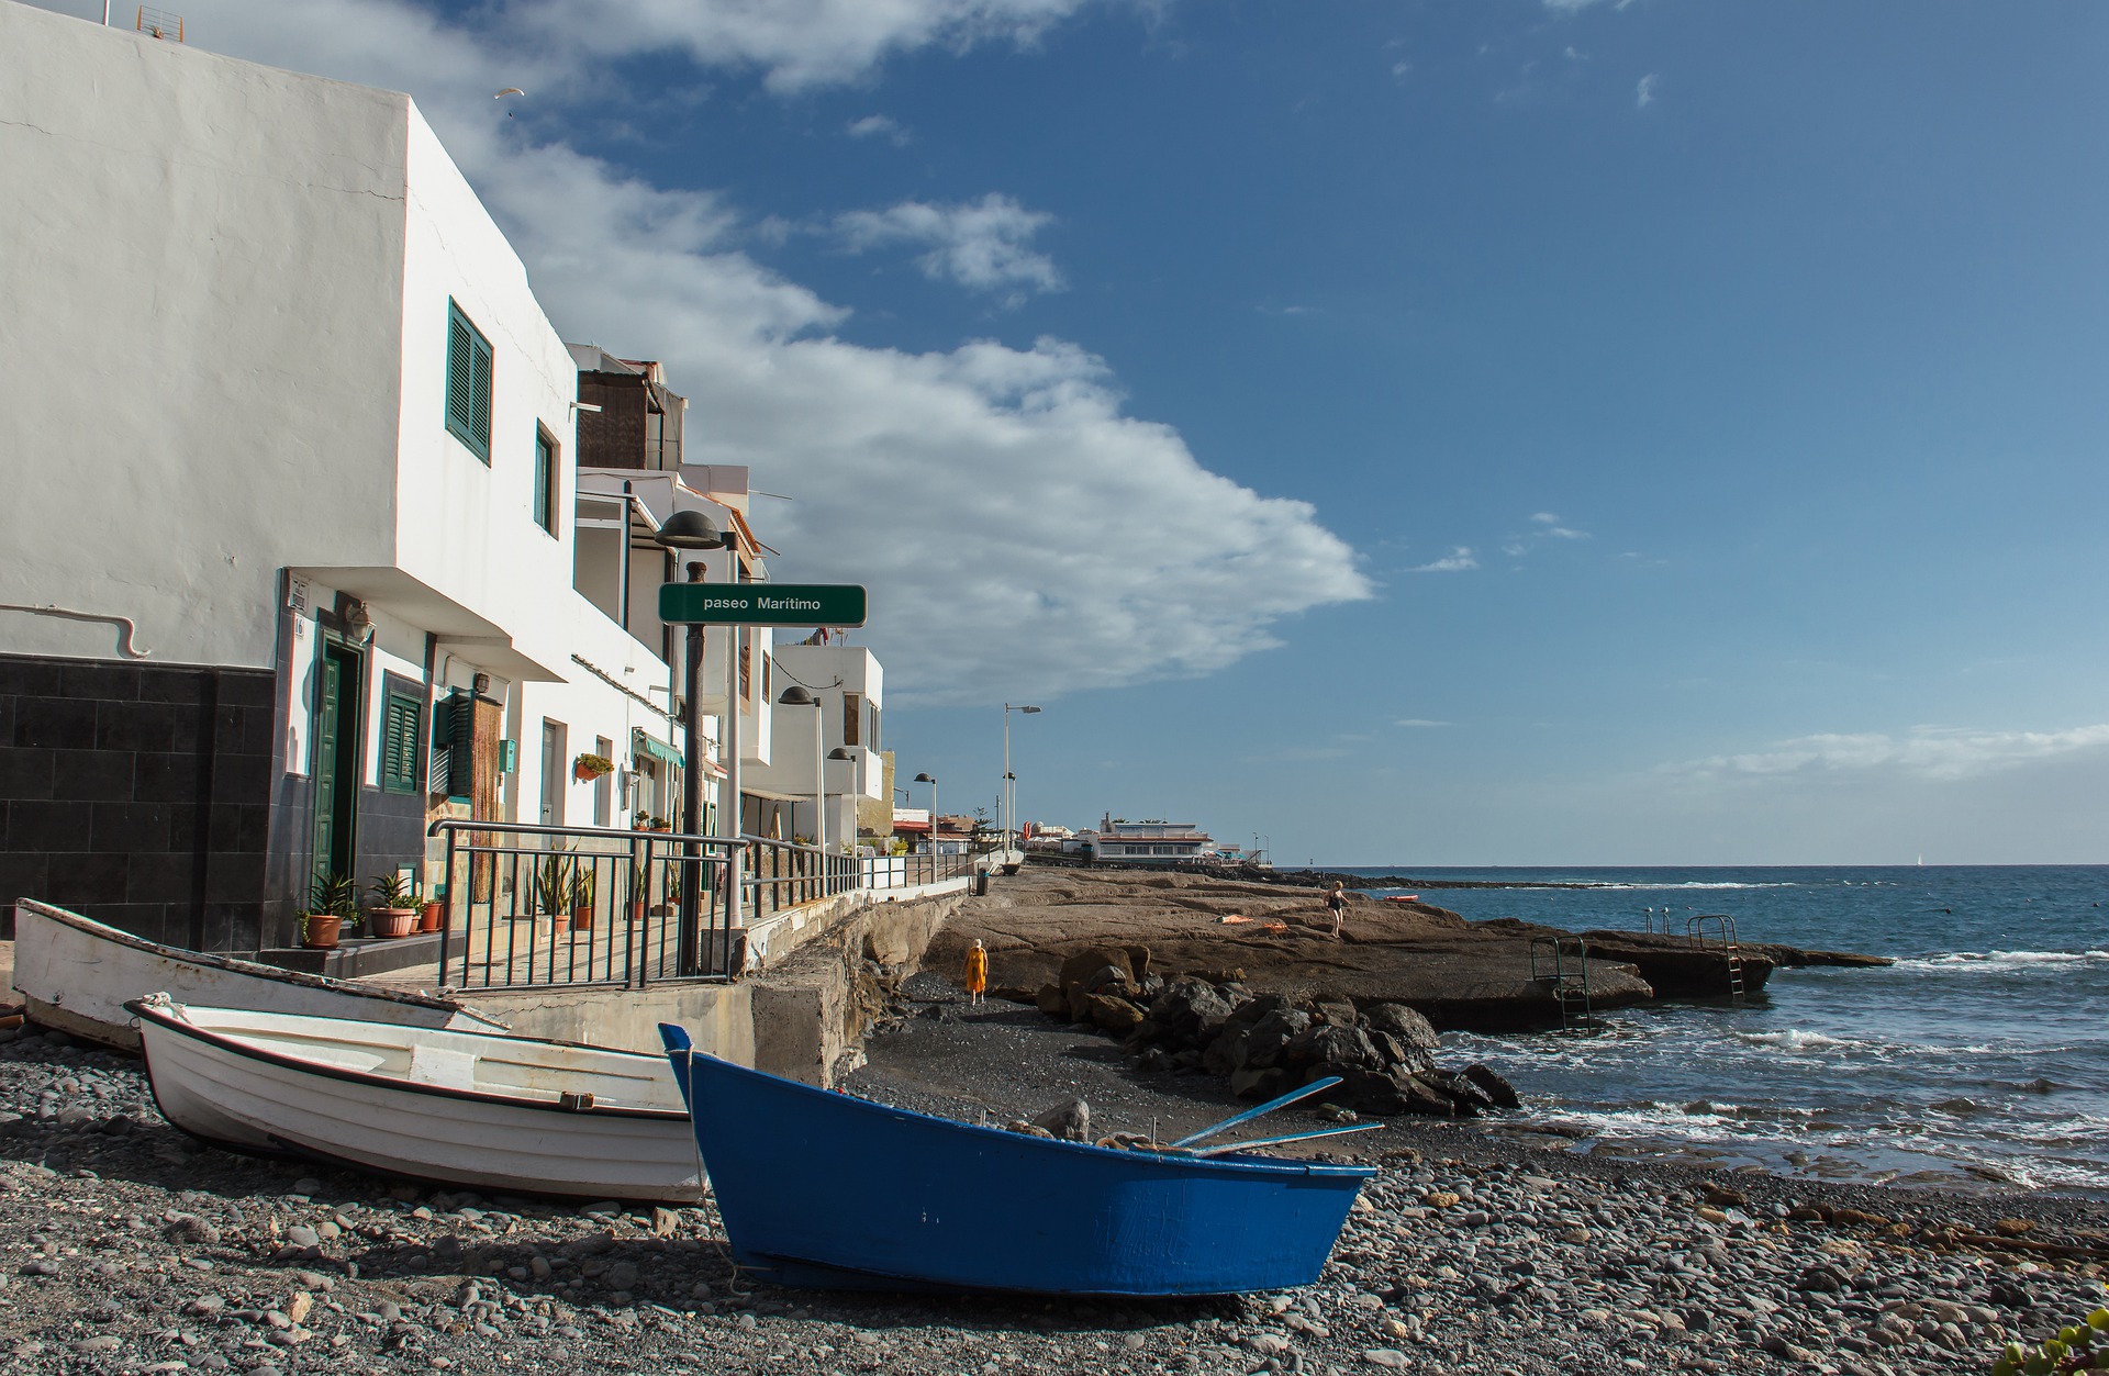
{"label": "blue sea with white breaking waves beside the rocky shore", "polygon": [[1445,1033],[1445,1060],[1506,1075],[1569,1151],[2109,1197],[2109,866],[1341,872],[1514,885],[1371,889],[1472,921],[1685,931],[1725,915],[1744,942],[1896,961],[1778,969],[1742,1005]]}

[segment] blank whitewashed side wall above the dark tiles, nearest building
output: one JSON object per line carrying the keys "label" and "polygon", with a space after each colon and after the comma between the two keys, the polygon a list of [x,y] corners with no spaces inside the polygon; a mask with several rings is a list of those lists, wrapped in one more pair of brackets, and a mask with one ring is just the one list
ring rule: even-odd
{"label": "blank whitewashed side wall above the dark tiles, nearest building", "polygon": [[0,601],[268,668],[283,565],[392,546],[409,101],[21,4],[0,65]]}

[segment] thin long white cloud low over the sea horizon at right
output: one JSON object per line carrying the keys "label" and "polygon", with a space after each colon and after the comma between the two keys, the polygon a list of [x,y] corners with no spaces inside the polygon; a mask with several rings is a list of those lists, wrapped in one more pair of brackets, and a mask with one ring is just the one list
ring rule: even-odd
{"label": "thin long white cloud low over the sea horizon at right", "polygon": [[1904,735],[1877,731],[1801,735],[1765,750],[1715,754],[1670,765],[1666,771],[1702,778],[1894,771],[1926,780],[1963,780],[2105,746],[2109,746],[2109,725],[2065,731],[1913,727]]}

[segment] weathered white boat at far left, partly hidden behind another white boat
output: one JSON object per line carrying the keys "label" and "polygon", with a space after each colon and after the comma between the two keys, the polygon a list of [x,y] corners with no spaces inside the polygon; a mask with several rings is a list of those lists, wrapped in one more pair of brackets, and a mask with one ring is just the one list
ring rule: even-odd
{"label": "weathered white boat at far left, partly hidden behind another white boat", "polygon": [[15,988],[27,999],[30,1022],[127,1051],[139,1049],[139,1033],[124,1005],[156,990],[209,1007],[504,1030],[451,999],[162,946],[27,898],[15,904]]}

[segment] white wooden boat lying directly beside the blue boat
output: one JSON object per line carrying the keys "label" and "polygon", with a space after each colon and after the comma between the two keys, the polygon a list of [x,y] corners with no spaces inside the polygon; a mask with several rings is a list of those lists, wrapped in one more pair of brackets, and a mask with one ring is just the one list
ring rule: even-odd
{"label": "white wooden boat lying directly beside the blue boat", "polygon": [[487,1193],[702,1197],[662,1056],[158,995],[131,1011],[162,1117],[219,1146]]}

